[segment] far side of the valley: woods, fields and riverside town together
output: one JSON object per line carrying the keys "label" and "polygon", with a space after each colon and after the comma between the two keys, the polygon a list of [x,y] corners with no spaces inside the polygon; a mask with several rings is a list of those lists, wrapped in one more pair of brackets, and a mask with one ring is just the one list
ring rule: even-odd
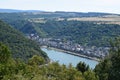
{"label": "far side of the valley: woods, fields and riverside town together", "polygon": [[[120,35],[120,15],[80,12],[11,12],[0,19],[39,45],[104,58]],[[14,18],[13,18],[14,17]]]}

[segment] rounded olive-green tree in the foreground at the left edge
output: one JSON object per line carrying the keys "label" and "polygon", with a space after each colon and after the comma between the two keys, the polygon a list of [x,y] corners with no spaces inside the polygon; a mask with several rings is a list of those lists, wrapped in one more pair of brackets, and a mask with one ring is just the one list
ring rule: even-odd
{"label": "rounded olive-green tree in the foreground at the left edge", "polygon": [[8,47],[0,43],[0,79],[4,75],[12,74],[14,72],[15,61],[11,58],[11,53]]}

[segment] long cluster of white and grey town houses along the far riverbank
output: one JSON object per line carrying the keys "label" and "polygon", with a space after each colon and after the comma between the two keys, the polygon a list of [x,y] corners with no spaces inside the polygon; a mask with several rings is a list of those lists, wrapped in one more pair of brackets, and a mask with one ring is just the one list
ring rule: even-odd
{"label": "long cluster of white and grey town houses along the far riverbank", "polygon": [[54,47],[89,57],[104,58],[109,53],[109,47],[82,46],[80,44],[73,43],[72,41],[62,41],[61,39],[53,38],[40,38],[35,34],[30,34],[28,38],[36,40],[41,46]]}

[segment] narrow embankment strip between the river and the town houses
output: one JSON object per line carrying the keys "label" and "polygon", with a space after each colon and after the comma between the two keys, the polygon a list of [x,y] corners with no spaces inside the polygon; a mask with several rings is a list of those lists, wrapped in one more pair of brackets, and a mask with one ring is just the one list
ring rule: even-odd
{"label": "narrow embankment strip between the river and the town houses", "polygon": [[86,55],[82,55],[82,54],[79,54],[79,53],[75,53],[75,52],[71,52],[71,51],[67,51],[67,50],[63,50],[63,49],[58,49],[58,48],[54,48],[54,47],[41,46],[41,48],[46,48],[46,49],[52,49],[52,50],[56,50],[56,51],[60,51],[60,52],[65,52],[67,54],[87,58],[87,59],[90,59],[90,60],[95,60],[95,61],[98,61],[98,62],[100,61],[100,59],[95,58],[95,57],[89,57],[89,56],[86,56]]}

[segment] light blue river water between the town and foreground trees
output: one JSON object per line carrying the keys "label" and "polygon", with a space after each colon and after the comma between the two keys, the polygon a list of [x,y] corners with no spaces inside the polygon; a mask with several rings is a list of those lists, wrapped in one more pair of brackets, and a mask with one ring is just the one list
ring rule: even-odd
{"label": "light blue river water between the town and foreground trees", "polygon": [[47,53],[48,57],[52,61],[57,61],[60,64],[65,64],[66,66],[68,66],[71,63],[74,67],[76,67],[76,65],[80,61],[82,61],[85,62],[87,65],[89,65],[91,69],[94,69],[95,66],[98,64],[98,62],[95,60],[74,56],[55,49],[47,49],[47,48],[41,48],[41,49]]}

